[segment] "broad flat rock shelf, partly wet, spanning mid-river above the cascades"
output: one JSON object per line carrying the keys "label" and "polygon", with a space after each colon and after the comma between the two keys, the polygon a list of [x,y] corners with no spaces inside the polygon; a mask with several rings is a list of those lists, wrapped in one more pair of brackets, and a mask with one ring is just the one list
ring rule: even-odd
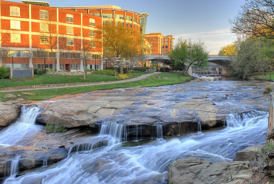
{"label": "broad flat rock shelf, partly wet, spanning mid-river above the cascades", "polygon": [[174,135],[196,131],[198,121],[202,129],[209,129],[223,126],[227,114],[268,110],[268,101],[262,95],[265,85],[259,81],[191,81],[153,88],[100,90],[50,103],[37,120],[69,128],[96,127],[104,121],[127,124],[129,129],[163,125],[164,134]]}

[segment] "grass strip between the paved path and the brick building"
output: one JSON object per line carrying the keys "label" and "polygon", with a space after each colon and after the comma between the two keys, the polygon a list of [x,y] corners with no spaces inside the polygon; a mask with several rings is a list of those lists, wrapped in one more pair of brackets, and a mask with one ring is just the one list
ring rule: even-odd
{"label": "grass strip between the paved path and the brick building", "polygon": [[[128,73],[129,78],[136,78],[145,74],[144,72],[139,73]],[[34,75],[30,79],[2,79],[0,80],[0,88],[12,87],[12,86],[25,86],[25,85],[41,85],[41,84],[65,84],[65,83],[81,83],[81,82],[101,82],[101,81],[118,81],[122,80],[112,75],[92,74],[86,75],[87,79],[83,78],[83,75]],[[129,79],[127,78],[127,79]]]}

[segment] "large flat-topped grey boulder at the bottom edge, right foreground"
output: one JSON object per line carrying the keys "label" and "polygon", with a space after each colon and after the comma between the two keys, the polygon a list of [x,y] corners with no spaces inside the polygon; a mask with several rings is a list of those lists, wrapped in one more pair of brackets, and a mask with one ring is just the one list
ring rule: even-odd
{"label": "large flat-topped grey boulder at the bottom edge, right foreground", "polygon": [[211,163],[198,158],[179,159],[170,164],[167,180],[173,184],[237,184],[251,177],[248,161]]}

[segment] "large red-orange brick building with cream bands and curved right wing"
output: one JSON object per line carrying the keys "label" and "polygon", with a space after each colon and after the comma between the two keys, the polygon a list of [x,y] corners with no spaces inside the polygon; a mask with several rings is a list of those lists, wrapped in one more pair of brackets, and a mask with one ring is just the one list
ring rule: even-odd
{"label": "large red-orange brick building with cream bands and curved right wing", "polygon": [[[102,44],[97,41],[96,27],[104,25],[123,25],[144,34],[149,14],[121,9],[114,5],[51,7],[48,2],[22,1],[23,3],[0,1],[1,46],[9,52],[2,62],[12,67],[44,67],[68,71],[83,71],[81,49],[84,33],[89,41],[90,57],[87,68],[103,69],[101,57]],[[141,20],[141,18],[143,18]],[[53,24],[55,66],[52,65],[50,49],[47,44],[47,31]],[[46,30],[46,31],[45,31]],[[55,39],[55,40],[54,40]],[[51,44],[52,45],[52,44]],[[11,57],[13,54],[13,57]]]}

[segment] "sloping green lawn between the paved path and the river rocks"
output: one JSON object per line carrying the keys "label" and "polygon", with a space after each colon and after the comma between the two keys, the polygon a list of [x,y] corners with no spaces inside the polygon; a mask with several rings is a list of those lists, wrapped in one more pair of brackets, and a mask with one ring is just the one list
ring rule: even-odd
{"label": "sloping green lawn between the paved path and the river rocks", "polygon": [[[161,85],[173,85],[179,84],[181,82],[190,81],[192,77],[183,76],[180,72],[164,72],[161,74],[156,74],[165,78],[155,78],[155,75],[150,76],[147,79],[123,82],[117,84],[103,84],[103,85],[93,85],[93,86],[79,86],[79,87],[68,87],[68,88],[56,88],[56,89],[40,89],[40,90],[30,90],[30,91],[17,91],[17,92],[0,92],[0,98],[2,101],[10,100],[4,98],[5,94],[21,95],[14,99],[23,98],[26,100],[46,100],[56,96],[76,94],[82,92],[89,92],[94,90],[104,90],[113,88],[131,88],[131,87],[154,87]],[[179,80],[180,76],[180,80]],[[167,79],[166,79],[167,78]],[[32,95],[26,95],[24,93],[32,93]]]}

